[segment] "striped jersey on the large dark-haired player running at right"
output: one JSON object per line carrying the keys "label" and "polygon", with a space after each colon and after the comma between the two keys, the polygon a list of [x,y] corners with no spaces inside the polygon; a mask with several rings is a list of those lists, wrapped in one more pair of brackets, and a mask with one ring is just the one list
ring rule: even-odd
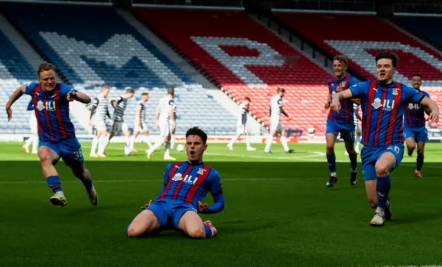
{"label": "striped jersey on the large dark-haired player running at right", "polygon": [[419,104],[424,95],[399,82],[381,86],[376,80],[356,84],[350,91],[354,97],[361,98],[361,143],[368,147],[403,144],[405,107],[408,107],[408,103]]}

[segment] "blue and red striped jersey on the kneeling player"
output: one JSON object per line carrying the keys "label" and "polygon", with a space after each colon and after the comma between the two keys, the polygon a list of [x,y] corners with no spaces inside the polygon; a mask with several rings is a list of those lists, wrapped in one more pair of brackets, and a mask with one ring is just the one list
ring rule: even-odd
{"label": "blue and red striped jersey on the kneeling player", "polygon": [[189,203],[198,210],[198,201],[204,201],[208,192],[213,198],[222,194],[220,174],[215,169],[204,163],[171,163],[164,171],[164,186],[157,200]]}

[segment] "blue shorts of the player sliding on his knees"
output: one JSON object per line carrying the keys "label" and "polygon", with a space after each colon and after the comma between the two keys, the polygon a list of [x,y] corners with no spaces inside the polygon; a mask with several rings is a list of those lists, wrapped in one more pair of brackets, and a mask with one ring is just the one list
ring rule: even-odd
{"label": "blue shorts of the player sliding on his knees", "polygon": [[[170,199],[161,199],[152,203],[146,210],[151,210],[157,217],[160,228],[178,228],[178,223],[185,212],[189,210],[197,212],[193,205],[189,203],[180,203]],[[198,212],[197,212],[198,213]]]}

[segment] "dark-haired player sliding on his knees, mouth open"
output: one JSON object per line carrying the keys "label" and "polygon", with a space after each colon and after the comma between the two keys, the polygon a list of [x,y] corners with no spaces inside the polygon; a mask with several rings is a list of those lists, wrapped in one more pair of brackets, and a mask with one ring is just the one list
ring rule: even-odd
{"label": "dark-haired player sliding on his knees, mouth open", "polygon": [[[154,202],[144,205],[144,210],[128,225],[128,237],[175,229],[189,237],[204,239],[218,232],[211,221],[203,222],[198,215],[224,210],[220,175],[202,161],[206,141],[206,133],[198,127],[187,131],[187,161],[167,165],[160,194]],[[202,203],[208,192],[214,202],[210,207]]]}

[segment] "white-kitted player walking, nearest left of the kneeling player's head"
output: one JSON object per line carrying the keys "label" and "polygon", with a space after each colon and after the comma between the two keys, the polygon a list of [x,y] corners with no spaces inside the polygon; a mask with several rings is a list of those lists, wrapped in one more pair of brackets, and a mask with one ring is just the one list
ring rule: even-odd
{"label": "white-kitted player walking, nearest left of the kneeling player's head", "polygon": [[[176,160],[176,158],[171,157],[171,128],[175,129],[175,102],[173,100],[173,95],[175,90],[172,87],[167,89],[167,95],[160,99],[160,104],[158,104],[157,110],[155,112],[155,126],[157,129],[160,127],[160,135],[162,138],[155,142],[155,145],[147,151],[147,158],[151,159],[153,151],[157,147],[164,146],[164,160]],[[172,120],[170,123],[169,121]]]}

